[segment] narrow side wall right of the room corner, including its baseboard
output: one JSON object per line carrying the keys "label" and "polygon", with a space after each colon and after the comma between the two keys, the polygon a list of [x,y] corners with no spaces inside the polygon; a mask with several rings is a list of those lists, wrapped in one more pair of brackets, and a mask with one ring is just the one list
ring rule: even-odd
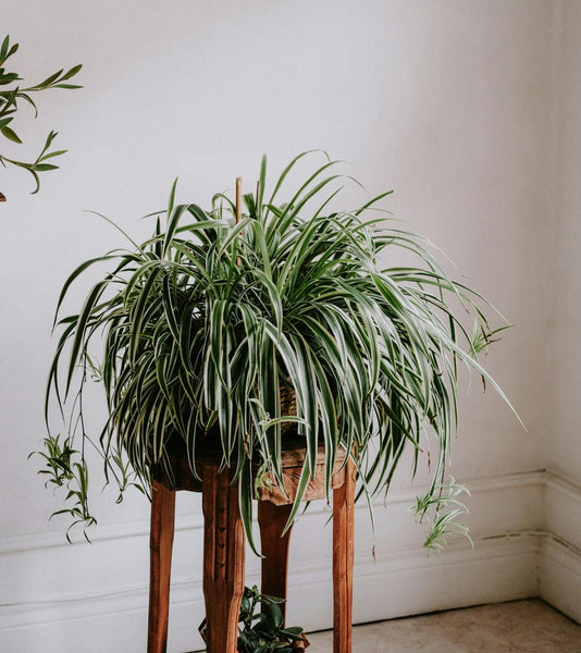
{"label": "narrow side wall right of the room corner, including its baseboard", "polygon": [[[554,316],[543,372],[551,379],[544,397],[547,410],[543,438],[546,465],[569,480],[561,497],[547,495],[547,528],[567,546],[547,555],[541,568],[541,590],[564,612],[577,614],[581,567],[581,4],[559,2],[555,14],[553,107],[554,285],[546,298]],[[561,556],[559,558],[559,555]],[[577,617],[580,619],[580,617]]]}

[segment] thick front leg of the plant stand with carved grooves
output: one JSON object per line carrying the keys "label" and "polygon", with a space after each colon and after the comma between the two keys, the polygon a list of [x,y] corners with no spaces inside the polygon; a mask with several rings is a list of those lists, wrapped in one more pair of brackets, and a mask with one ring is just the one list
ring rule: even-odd
{"label": "thick front leg of the plant stand with carved grooves", "polygon": [[236,653],[238,617],[244,593],[244,528],[238,485],[230,470],[202,472],[203,597],[208,653]]}

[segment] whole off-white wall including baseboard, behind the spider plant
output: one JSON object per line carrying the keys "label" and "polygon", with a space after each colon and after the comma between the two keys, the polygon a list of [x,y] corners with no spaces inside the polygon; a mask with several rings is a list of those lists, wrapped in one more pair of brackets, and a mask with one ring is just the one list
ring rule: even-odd
{"label": "whole off-white wall including baseboard, behind the spider plant", "polygon": [[[84,89],[39,98],[40,118],[20,123],[25,151],[53,127],[70,150],[40,194],[18,171],[0,177],[2,650],[145,646],[149,506],[97,493],[94,544],[70,546],[26,459],[45,434],[60,287],[122,245],[87,210],[139,239],[177,175],[178,199],[207,207],[237,175],[251,187],[263,152],[277,172],[312,148],[370,194],[394,188],[386,208],[516,324],[485,365],[528,427],[473,379],[450,472],[472,491],[475,549],[453,539],[427,557],[407,510],[424,477],[406,467],[376,507],[375,560],[357,515],[356,620],[539,594],[581,619],[580,4],[3,0],[4,33],[27,79],[82,62]],[[89,412],[97,432],[97,401]],[[199,648],[203,616],[199,497],[177,513],[171,653]],[[332,621],[326,517],[314,506],[293,534],[289,620],[309,629]],[[258,568],[249,556],[250,582]]]}

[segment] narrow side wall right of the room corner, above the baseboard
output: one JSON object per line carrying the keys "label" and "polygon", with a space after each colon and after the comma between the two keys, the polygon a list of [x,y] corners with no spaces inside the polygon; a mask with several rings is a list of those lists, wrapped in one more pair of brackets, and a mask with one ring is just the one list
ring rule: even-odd
{"label": "narrow side wall right of the room corner, above the baseboard", "polygon": [[556,76],[561,93],[556,114],[557,250],[551,297],[555,329],[551,369],[554,373],[552,436],[545,456],[551,465],[581,482],[581,364],[576,341],[581,328],[581,4],[563,4]]}

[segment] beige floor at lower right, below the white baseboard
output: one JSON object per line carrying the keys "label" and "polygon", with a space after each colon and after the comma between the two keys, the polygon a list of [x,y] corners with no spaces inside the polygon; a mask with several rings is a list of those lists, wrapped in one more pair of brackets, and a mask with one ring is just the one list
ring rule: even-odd
{"label": "beige floor at lower right, below the white baseboard", "polygon": [[[308,653],[331,653],[332,632]],[[354,653],[581,653],[581,626],[530,599],[358,626]]]}

